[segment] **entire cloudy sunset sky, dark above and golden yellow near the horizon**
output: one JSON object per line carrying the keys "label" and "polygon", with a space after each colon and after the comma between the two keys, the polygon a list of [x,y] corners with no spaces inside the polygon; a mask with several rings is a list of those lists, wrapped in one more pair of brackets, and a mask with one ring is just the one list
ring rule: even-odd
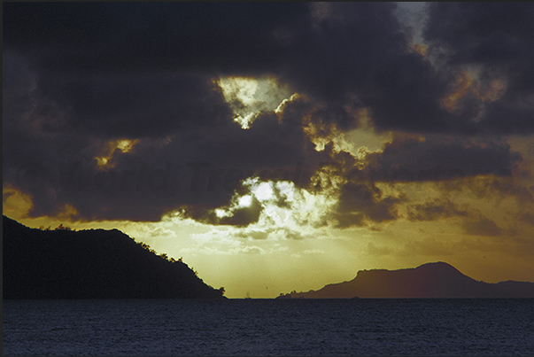
{"label": "entire cloudy sunset sky, dark above and golden yellow near the horizon", "polygon": [[3,213],[228,298],[534,281],[533,3],[3,3]]}

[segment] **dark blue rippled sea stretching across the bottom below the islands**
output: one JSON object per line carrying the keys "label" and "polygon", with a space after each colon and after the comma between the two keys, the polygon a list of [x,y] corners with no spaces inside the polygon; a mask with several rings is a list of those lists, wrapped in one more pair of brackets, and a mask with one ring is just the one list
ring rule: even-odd
{"label": "dark blue rippled sea stretching across the bottom below the islands", "polygon": [[534,355],[534,299],[5,300],[4,355]]}

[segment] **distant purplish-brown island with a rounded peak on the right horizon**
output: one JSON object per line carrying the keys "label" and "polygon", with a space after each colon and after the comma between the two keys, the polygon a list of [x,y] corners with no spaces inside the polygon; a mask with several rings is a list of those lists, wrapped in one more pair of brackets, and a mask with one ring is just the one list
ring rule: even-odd
{"label": "distant purplish-brown island with a rounded peak on the right horizon", "polygon": [[319,291],[293,291],[277,299],[284,298],[534,298],[534,283],[478,282],[440,261],[417,268],[360,270],[350,282],[329,284]]}

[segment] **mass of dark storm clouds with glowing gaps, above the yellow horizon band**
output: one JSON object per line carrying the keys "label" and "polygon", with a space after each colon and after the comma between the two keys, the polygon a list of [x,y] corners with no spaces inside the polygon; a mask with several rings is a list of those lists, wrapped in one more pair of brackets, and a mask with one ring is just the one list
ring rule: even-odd
{"label": "mass of dark storm clouds with glowing gaps, above the yellow horizon band", "polygon": [[[534,131],[532,4],[430,4],[425,43],[396,6],[4,3],[4,188],[29,216],[89,221],[245,227],[304,205],[267,206],[255,177],[335,200],[312,221],[342,228],[399,218],[410,198],[377,182],[512,175],[501,135]],[[396,134],[334,145],[361,128]]]}

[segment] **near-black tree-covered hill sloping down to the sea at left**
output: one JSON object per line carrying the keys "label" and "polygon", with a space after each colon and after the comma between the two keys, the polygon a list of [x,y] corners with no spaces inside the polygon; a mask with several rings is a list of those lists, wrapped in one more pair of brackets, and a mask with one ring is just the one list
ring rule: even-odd
{"label": "near-black tree-covered hill sloping down to the sea at left", "polygon": [[5,216],[3,225],[4,299],[226,299],[118,229],[29,229]]}

